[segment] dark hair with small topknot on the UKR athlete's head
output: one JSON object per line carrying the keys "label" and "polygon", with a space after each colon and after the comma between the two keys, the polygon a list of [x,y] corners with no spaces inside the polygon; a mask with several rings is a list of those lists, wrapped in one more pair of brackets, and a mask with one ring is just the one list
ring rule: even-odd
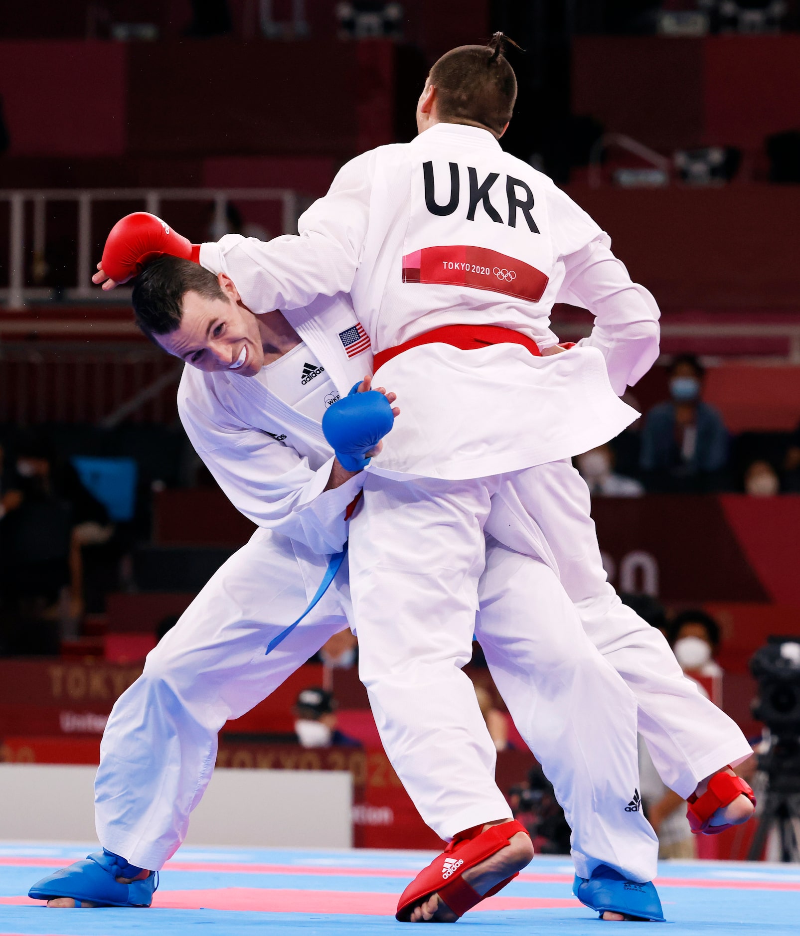
{"label": "dark hair with small topknot on the UKR athlete's head", "polygon": [[[503,55],[511,39],[495,33],[486,46],[458,46],[445,52],[430,69],[439,117],[473,121],[502,133],[516,101],[516,76]],[[516,45],[516,43],[513,43]]]}

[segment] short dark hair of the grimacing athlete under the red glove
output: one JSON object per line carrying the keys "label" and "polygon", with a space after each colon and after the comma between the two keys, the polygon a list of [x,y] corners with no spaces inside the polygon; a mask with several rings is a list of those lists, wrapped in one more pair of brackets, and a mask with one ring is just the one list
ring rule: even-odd
{"label": "short dark hair of the grimacing athlete under the red glove", "polygon": [[167,335],[181,328],[183,297],[196,292],[207,299],[225,299],[216,276],[191,260],[180,256],[158,256],[134,281],[131,301],[136,324],[156,342],[156,335]]}

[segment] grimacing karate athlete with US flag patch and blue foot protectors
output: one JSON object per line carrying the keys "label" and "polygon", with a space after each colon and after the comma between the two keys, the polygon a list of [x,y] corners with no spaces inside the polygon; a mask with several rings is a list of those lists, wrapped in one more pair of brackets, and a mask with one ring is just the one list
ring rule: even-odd
{"label": "grimacing karate athlete with US flag patch and blue foot protectors", "polygon": [[[154,311],[153,294],[165,297]],[[154,878],[147,872],[179,847],[211,777],[219,729],[269,695],[351,617],[344,566],[298,628],[265,653],[306,606],[329,554],[346,538],[346,509],[364,475],[331,457],[320,421],[371,369],[369,341],[351,340],[358,329],[346,297],[317,300],[296,315],[299,333],[281,313],[256,317],[238,299],[224,274],[172,257],[154,261],[135,289],[135,304],[150,306],[140,315],[148,330],[182,310],[180,328],[154,335],[192,365],[179,390],[182,423],[232,503],[261,529],[211,578],[114,706],[95,782],[105,851],[32,888],[32,897],[56,906],[149,903]],[[320,342],[320,329],[335,341]],[[637,782],[635,762],[622,756],[631,746],[635,752],[633,694],[590,644],[550,565],[491,541],[480,596],[477,636],[516,724],[566,804],[576,860],[649,873],[655,840],[644,816],[608,823],[598,809],[618,788],[630,796]],[[585,750],[586,724],[621,736],[611,757]],[[497,787],[487,791],[494,746],[483,719],[456,712],[447,731],[450,743],[471,748],[479,775],[473,782],[469,774],[433,770],[429,787],[440,788],[430,824],[451,838],[489,796],[487,816],[510,818]],[[497,883],[487,870],[473,872],[481,895]]]}

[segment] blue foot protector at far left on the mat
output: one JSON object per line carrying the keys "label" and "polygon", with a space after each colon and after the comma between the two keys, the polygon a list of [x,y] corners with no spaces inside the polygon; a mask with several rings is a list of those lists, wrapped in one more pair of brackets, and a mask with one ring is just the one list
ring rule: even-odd
{"label": "blue foot protector at far left on the mat", "polygon": [[28,891],[28,897],[35,900],[71,897],[76,907],[83,900],[101,907],[149,907],[158,886],[156,872],[133,884],[117,881],[118,877],[136,877],[141,870],[104,848],[42,878]]}

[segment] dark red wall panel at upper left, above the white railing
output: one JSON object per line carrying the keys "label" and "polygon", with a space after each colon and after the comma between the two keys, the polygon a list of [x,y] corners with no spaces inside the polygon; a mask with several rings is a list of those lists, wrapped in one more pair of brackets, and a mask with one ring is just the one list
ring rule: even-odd
{"label": "dark red wall panel at upper left, above the white railing", "polygon": [[394,139],[385,41],[0,42],[8,156],[335,155]]}

